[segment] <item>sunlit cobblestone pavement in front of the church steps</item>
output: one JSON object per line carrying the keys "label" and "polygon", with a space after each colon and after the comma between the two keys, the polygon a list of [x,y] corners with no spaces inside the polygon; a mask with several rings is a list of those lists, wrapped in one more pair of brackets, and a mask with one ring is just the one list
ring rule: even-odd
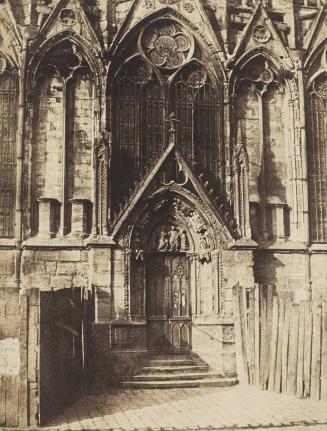
{"label": "sunlit cobblestone pavement in front of the church steps", "polygon": [[49,424],[51,430],[195,430],[304,427],[327,430],[327,403],[245,386],[111,389],[86,395]]}

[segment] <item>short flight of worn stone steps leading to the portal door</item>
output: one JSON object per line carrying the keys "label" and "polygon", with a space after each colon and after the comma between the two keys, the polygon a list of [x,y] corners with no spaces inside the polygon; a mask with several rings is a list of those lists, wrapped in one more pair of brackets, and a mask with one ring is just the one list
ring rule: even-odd
{"label": "short flight of worn stone steps leading to the portal door", "polygon": [[225,387],[238,383],[235,377],[222,377],[209,370],[208,364],[188,355],[153,355],[140,373],[121,382],[125,388],[197,388]]}

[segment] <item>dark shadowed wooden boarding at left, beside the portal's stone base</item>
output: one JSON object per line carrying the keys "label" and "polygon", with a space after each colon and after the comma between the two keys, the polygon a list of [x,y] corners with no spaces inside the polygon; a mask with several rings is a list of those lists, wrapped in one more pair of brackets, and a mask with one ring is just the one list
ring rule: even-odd
{"label": "dark shadowed wooden boarding at left, beside the portal's stone base", "polygon": [[89,319],[84,289],[40,294],[39,421],[45,425],[87,389]]}

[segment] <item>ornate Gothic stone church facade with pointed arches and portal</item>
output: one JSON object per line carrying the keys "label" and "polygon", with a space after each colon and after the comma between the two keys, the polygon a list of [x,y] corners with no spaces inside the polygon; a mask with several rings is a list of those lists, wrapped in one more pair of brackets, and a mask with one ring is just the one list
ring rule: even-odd
{"label": "ornate Gothic stone church facade with pointed arches and portal", "polygon": [[92,293],[94,387],[149,352],[233,375],[237,284],[326,300],[326,118],[324,0],[0,1],[0,339],[26,397],[61,291]]}

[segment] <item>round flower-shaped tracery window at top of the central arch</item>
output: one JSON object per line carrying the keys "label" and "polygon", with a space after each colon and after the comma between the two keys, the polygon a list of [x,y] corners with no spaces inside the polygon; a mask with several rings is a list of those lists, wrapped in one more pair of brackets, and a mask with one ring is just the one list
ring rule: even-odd
{"label": "round flower-shaped tracery window at top of the central arch", "polygon": [[142,46],[152,63],[164,69],[180,67],[193,52],[191,37],[170,22],[147,28],[142,36]]}

